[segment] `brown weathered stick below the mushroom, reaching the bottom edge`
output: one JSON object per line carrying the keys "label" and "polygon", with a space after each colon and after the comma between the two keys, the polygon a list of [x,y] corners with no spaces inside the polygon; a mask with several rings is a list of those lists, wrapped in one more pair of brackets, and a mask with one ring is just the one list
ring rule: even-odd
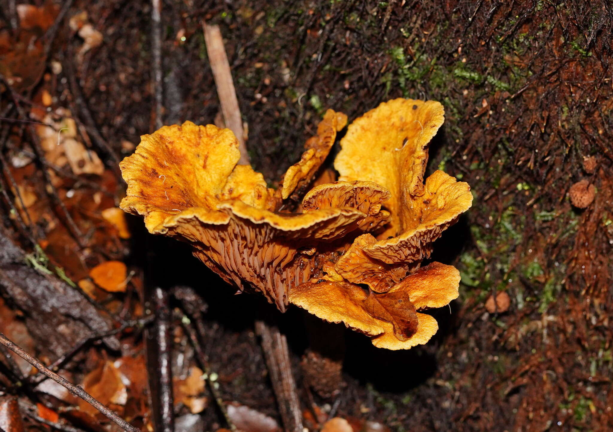
{"label": "brown weathered stick below the mushroom, reaching the bottom edge", "polygon": [[256,333],[262,338],[262,351],[270,372],[270,381],[275,390],[284,430],[302,432],[302,415],[292,374],[292,363],[289,360],[287,339],[285,335],[281,335],[276,325],[268,325],[263,320],[256,321]]}

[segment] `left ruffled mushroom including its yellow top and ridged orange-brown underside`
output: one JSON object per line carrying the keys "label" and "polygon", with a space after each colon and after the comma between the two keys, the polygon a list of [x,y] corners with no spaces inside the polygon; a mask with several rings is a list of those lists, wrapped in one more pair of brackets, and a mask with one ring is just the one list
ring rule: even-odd
{"label": "left ruffled mushroom including its yellow top and ridged orange-brown underside", "polygon": [[128,191],[120,207],[142,214],[149,232],[192,244],[224,280],[239,289],[248,282],[284,311],[287,292],[321,274],[322,254],[299,249],[342,237],[367,215],[350,207],[275,213],[275,191],[237,165],[239,157],[229,129],[164,126],[121,162]]}

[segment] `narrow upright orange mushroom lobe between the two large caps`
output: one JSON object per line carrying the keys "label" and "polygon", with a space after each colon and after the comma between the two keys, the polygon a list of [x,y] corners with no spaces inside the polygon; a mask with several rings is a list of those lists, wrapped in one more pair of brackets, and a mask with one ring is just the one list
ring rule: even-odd
{"label": "narrow upright orange mushroom lobe between the two large caps", "polygon": [[287,199],[295,189],[303,189],[311,182],[313,176],[324,163],[330,148],[334,144],[337,132],[347,124],[347,116],[333,110],[327,110],[324,119],[319,122],[317,135],[309,138],[305,144],[307,150],[302,153],[300,161],[287,169],[283,176],[281,197]]}

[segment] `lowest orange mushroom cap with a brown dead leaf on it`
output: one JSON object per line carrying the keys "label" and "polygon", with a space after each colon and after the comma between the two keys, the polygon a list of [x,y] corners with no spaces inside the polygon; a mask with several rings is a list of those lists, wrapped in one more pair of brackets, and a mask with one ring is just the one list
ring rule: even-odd
{"label": "lowest orange mushroom cap with a brown dead leaf on it", "polygon": [[[289,301],[329,322],[343,322],[387,349],[408,349],[436,333],[436,320],[417,313],[438,308],[458,296],[459,271],[438,262],[420,268],[384,293],[350,282],[311,279],[289,293]],[[414,299],[414,300],[413,300]]]}

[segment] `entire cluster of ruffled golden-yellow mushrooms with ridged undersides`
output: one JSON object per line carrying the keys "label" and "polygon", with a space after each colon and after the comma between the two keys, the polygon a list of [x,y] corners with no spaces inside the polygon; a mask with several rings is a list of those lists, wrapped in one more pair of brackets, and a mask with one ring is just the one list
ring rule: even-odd
{"label": "entire cluster of ruffled golden-yellow mushrooms with ridged undersides", "polygon": [[443,121],[438,102],[384,102],[349,125],[334,162],[338,181],[319,184],[347,123],[328,110],[278,189],[237,165],[229,129],[164,126],[121,162],[121,208],[144,216],[149,232],[188,242],[221,278],[261,292],[280,311],[293,303],[375,346],[408,349],[438,329],[419,311],[458,295],[454,267],[421,267],[472,202],[468,184],[442,171],[424,184],[428,143]]}

